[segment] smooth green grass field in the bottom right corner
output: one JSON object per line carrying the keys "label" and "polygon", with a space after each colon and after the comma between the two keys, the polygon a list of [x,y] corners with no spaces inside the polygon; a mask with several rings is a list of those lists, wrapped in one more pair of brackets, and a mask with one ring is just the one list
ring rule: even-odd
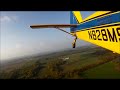
{"label": "smooth green grass field in the bottom right corner", "polygon": [[87,79],[120,79],[120,72],[115,69],[115,63],[108,62],[84,72]]}

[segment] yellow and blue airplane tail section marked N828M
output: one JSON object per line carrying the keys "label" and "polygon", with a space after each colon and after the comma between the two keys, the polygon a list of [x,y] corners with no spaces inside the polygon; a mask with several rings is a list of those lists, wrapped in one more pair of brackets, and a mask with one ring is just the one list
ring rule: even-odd
{"label": "yellow and blue airplane tail section marked N828M", "polygon": [[[83,19],[80,11],[70,11],[70,24],[39,24],[37,28],[56,28],[75,37],[120,54],[120,11],[96,11]],[[62,28],[70,28],[70,32]]]}

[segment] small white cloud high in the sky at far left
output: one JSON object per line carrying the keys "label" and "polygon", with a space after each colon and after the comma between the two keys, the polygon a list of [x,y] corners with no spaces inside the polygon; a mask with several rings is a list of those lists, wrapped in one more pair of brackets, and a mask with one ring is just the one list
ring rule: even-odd
{"label": "small white cloud high in the sky at far left", "polygon": [[0,16],[0,22],[16,22],[18,20],[18,17],[17,16]]}

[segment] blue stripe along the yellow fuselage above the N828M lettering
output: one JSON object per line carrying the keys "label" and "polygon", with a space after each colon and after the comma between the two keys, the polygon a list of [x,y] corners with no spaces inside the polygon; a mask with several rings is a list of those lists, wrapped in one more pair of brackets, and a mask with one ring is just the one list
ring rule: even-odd
{"label": "blue stripe along the yellow fuselage above the N828M lettering", "polygon": [[86,29],[86,28],[91,28],[91,27],[95,27],[95,26],[101,26],[104,24],[117,23],[117,22],[120,22],[120,13],[111,14],[111,15],[108,15],[105,17],[101,17],[98,19],[94,19],[94,20],[82,23],[82,24],[78,25],[77,28],[75,28],[75,31]]}

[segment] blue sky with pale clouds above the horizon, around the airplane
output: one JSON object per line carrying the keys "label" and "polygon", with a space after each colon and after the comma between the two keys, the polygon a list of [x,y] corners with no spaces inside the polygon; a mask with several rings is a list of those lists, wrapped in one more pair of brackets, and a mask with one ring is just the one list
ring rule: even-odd
{"label": "blue sky with pale clouds above the horizon, around the airplane", "polygon": [[[92,13],[81,12],[83,19]],[[70,24],[70,11],[0,11],[0,60],[72,48],[74,37],[54,28],[31,29],[32,24]],[[77,47],[87,44],[77,40]]]}

